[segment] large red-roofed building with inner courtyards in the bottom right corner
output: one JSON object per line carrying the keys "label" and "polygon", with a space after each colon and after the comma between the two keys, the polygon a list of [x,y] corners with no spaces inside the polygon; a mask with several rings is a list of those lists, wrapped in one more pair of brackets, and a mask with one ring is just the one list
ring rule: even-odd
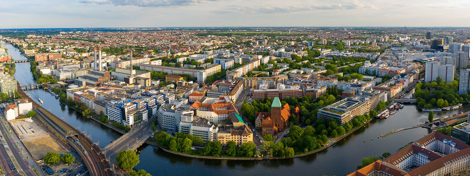
{"label": "large red-roofed building with inner courtyards in the bottom right corner", "polygon": [[455,176],[470,169],[470,146],[439,132],[348,176]]}

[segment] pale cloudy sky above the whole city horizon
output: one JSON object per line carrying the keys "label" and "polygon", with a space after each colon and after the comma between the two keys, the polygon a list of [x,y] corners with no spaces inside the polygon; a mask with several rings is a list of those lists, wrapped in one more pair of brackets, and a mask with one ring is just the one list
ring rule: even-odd
{"label": "pale cloudy sky above the whole city horizon", "polygon": [[1,0],[0,29],[469,27],[470,0]]}

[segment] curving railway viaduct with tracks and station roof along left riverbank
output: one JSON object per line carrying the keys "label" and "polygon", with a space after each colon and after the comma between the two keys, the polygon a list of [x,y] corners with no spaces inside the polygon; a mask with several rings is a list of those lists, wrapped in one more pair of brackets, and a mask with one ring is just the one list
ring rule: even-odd
{"label": "curving railway viaduct with tracks and station roof along left riverbank", "polygon": [[[71,145],[71,147],[77,151],[85,162],[90,175],[92,176],[114,176],[113,168],[110,167],[109,162],[106,162],[106,156],[100,152],[98,146],[94,145],[93,142],[86,138],[86,135],[80,133],[77,129],[72,127],[67,122],[58,118],[54,114],[50,113],[43,107],[41,107],[36,101],[31,99],[22,89],[20,84],[17,84],[18,92],[23,95],[24,98],[32,102],[33,110],[36,112],[34,117],[39,122],[42,122],[52,134],[55,135],[62,142]],[[67,138],[77,138],[79,143],[75,143]]]}

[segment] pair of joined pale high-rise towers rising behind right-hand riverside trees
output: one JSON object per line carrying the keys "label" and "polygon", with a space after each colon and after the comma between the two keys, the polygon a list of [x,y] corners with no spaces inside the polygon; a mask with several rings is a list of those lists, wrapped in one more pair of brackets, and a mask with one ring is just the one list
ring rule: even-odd
{"label": "pair of joined pale high-rise towers rising behind right-hand riverside trees", "polygon": [[453,65],[440,65],[439,61],[428,61],[426,62],[425,81],[436,81],[440,77],[446,83],[452,83],[454,81],[454,70],[455,66]]}

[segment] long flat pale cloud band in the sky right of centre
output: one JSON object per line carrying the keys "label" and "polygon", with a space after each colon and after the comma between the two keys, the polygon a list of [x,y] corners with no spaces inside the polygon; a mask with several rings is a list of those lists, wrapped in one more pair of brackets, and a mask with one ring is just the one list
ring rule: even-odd
{"label": "long flat pale cloud band in the sky right of centre", "polygon": [[223,9],[211,11],[212,13],[228,14],[228,13],[292,13],[300,11],[315,11],[315,10],[351,10],[351,9],[378,9],[373,5],[360,3],[359,1],[348,1],[345,3],[324,4],[324,5],[311,5],[311,6],[262,6],[262,7],[248,7],[248,6],[225,6]]}

